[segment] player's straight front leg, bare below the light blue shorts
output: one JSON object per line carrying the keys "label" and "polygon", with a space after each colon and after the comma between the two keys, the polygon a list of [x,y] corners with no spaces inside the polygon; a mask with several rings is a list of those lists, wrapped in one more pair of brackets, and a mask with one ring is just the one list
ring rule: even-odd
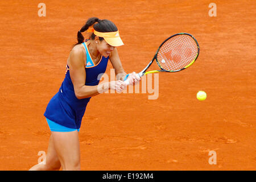
{"label": "player's straight front leg, bare below the light blue shorts", "polygon": [[80,170],[80,144],[78,131],[52,131],[53,142],[63,170]]}

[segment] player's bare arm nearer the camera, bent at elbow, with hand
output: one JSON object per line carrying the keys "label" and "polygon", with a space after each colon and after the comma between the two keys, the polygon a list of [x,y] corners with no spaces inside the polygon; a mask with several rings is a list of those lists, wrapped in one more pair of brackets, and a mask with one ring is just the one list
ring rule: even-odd
{"label": "player's bare arm nearer the camera, bent at elbow, with hand", "polygon": [[120,80],[104,82],[95,86],[85,85],[86,73],[83,57],[84,53],[82,51],[82,47],[80,46],[75,46],[71,51],[71,55],[69,56],[69,74],[77,99],[96,96],[97,94],[103,93],[109,89],[122,92],[124,86],[122,86],[123,82]]}

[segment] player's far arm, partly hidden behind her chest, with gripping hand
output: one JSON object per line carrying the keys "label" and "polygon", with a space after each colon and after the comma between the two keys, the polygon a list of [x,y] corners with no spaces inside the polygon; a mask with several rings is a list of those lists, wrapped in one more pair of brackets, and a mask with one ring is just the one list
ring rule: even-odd
{"label": "player's far arm, partly hidden behind her chest, with gripping hand", "polygon": [[[123,69],[117,48],[114,48],[114,50],[110,53],[109,60],[115,69],[115,76],[117,77],[117,80],[124,80],[127,73]],[[128,78],[130,78],[130,84],[134,84],[141,80],[141,78],[139,78],[135,72],[130,73]]]}

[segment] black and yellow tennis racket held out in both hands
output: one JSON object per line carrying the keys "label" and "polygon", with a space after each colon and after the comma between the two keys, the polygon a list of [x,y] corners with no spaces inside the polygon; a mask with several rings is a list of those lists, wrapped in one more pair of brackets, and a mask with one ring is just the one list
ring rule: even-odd
{"label": "black and yellow tennis racket held out in both hands", "polygon": [[[179,72],[195,63],[199,56],[199,50],[199,44],[192,35],[187,33],[172,35],[164,40],[147,67],[137,75],[142,77],[148,73]],[[147,71],[154,60],[156,60],[160,70]],[[126,85],[129,85],[128,76],[126,75],[124,79]]]}

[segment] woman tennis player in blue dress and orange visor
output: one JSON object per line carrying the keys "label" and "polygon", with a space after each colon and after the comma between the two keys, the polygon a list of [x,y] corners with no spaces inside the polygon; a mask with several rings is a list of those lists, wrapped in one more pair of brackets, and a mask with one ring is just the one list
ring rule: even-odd
{"label": "woman tennis player in blue dress and orange visor", "polygon": [[[91,32],[84,39],[81,32]],[[92,96],[113,89],[122,92],[122,81],[127,74],[122,68],[117,48],[123,42],[117,27],[110,20],[89,18],[77,32],[78,43],[72,48],[67,71],[59,92],[49,101],[44,116],[51,130],[46,163],[39,163],[30,170],[80,170],[79,130],[86,105]],[[98,75],[105,73],[108,60],[115,69],[117,81],[99,84]],[[141,78],[129,74],[130,84]]]}

